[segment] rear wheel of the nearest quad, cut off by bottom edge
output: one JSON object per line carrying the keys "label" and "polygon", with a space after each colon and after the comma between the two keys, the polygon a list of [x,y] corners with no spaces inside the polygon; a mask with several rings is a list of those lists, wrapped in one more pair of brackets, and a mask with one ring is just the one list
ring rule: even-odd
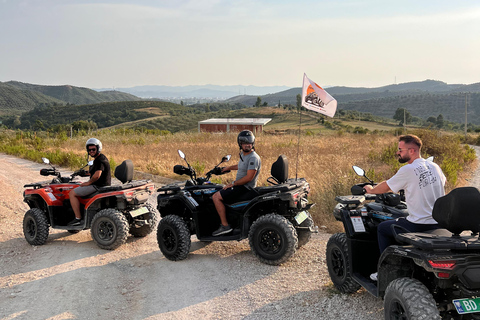
{"label": "rear wheel of the nearest quad, cut off by bottom edge", "polygon": [[385,291],[385,319],[437,320],[437,304],[428,289],[411,278],[395,279]]}

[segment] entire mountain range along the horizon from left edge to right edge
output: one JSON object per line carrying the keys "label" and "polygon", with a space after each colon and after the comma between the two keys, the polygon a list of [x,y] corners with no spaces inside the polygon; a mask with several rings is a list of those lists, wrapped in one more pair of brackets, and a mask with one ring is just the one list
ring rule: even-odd
{"label": "entire mountain range along the horizon from left edge to right edge", "polygon": [[[468,107],[468,122],[480,125],[480,83],[447,84],[437,80],[425,80],[376,88],[335,86],[326,90],[338,101],[339,110],[356,110],[392,118],[398,108],[404,108],[412,116],[424,120],[442,114],[445,120],[463,123],[465,109]],[[69,85],[44,86],[18,81],[0,82],[0,116],[20,115],[36,106],[145,100],[146,98],[139,96],[152,96],[153,93],[180,98],[187,102],[186,105],[198,102],[199,97],[205,97],[203,101],[221,100],[222,103],[245,106],[254,105],[259,97],[262,104],[270,106],[296,105],[296,97],[301,94],[301,88],[285,86],[138,86],[129,88],[129,91],[130,93],[120,89],[97,91]],[[194,96],[196,99],[191,102],[187,96]],[[179,103],[180,100],[176,102]]]}

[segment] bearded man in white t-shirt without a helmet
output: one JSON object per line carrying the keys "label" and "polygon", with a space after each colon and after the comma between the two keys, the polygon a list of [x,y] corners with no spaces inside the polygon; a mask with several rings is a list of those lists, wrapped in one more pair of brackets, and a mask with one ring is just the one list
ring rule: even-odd
{"label": "bearded man in white t-shirt without a helmet", "polygon": [[408,216],[379,224],[377,234],[380,253],[388,246],[395,244],[392,231],[394,224],[410,232],[424,232],[438,228],[437,222],[432,217],[432,210],[435,201],[445,195],[446,178],[436,163],[420,156],[421,148],[422,140],[419,137],[415,135],[400,136],[397,151],[398,161],[407,164],[387,181],[383,181],[375,187],[365,186],[366,193],[372,194],[405,190]]}

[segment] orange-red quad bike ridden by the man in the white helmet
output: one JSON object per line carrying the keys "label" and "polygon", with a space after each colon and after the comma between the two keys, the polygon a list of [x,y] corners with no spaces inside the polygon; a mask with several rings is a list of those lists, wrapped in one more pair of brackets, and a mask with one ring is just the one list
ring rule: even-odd
{"label": "orange-red quad bike ridden by the man in the white helmet", "polygon": [[[50,161],[43,158],[44,163]],[[90,161],[89,165],[92,165]],[[148,180],[132,181],[133,163],[125,160],[115,168],[115,177],[121,185],[98,188],[97,192],[80,198],[82,221],[79,226],[69,226],[75,218],[70,205],[69,192],[80,185],[74,181],[88,172],[82,169],[70,177],[62,177],[50,164],[41,169],[42,176],[55,176],[52,181],[26,184],[24,201],[30,207],[23,219],[23,233],[31,245],[43,245],[47,241],[49,227],[77,233],[91,229],[93,240],[102,249],[113,250],[125,243],[128,233],[144,237],[151,233],[158,222],[158,212],[147,204],[155,185]]]}

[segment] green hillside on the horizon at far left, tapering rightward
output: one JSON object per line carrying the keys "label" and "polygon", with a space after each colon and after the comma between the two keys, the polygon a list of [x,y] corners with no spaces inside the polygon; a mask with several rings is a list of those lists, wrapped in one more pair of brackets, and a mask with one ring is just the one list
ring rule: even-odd
{"label": "green hillside on the horizon at far left, tapering rightward", "polygon": [[0,114],[21,114],[46,104],[92,104],[109,101],[135,101],[140,98],[120,92],[97,92],[74,86],[43,86],[17,81],[0,82]]}

